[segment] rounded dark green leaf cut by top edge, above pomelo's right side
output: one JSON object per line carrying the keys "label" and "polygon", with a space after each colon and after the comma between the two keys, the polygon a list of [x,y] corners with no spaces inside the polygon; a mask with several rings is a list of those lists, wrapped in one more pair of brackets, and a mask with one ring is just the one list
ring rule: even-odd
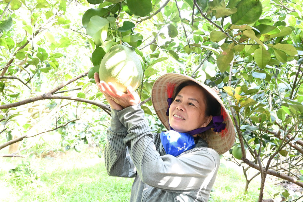
{"label": "rounded dark green leaf cut by top edge, above pomelo's right side", "polygon": [[129,10],[137,16],[145,17],[151,13],[152,5],[150,0],[127,0]]}

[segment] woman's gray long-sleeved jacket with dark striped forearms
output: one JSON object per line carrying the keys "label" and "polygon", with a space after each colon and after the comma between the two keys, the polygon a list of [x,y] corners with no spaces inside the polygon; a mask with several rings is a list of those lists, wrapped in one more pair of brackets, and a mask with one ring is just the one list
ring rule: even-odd
{"label": "woman's gray long-sleeved jacket with dark striped forearms", "polygon": [[111,114],[105,166],[110,176],[135,177],[131,202],[208,201],[220,157],[204,140],[174,157],[151,133],[140,104]]}

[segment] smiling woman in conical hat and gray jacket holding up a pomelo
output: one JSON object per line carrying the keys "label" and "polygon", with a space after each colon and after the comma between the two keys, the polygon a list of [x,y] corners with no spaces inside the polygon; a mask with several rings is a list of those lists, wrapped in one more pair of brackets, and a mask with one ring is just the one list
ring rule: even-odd
{"label": "smiling woman in conical hat and gray jacket holding up a pomelo", "polygon": [[[111,176],[135,177],[130,201],[208,201],[219,154],[235,141],[235,131],[218,94],[180,74],[159,77],[152,103],[168,129],[151,133],[138,94],[95,81],[111,105],[105,166]],[[173,82],[173,83],[171,83]],[[212,129],[211,129],[212,128]]]}

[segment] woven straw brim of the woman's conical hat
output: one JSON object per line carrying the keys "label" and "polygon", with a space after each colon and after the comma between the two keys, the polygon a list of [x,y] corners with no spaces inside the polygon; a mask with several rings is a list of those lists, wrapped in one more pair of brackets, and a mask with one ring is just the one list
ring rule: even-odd
{"label": "woven straw brim of the woman's conical hat", "polygon": [[199,84],[202,88],[208,91],[221,104],[222,109],[225,110],[227,117],[223,123],[226,124],[225,128],[227,129],[227,132],[224,134],[224,136],[222,137],[221,133],[216,133],[212,130],[205,131],[200,135],[208,143],[208,147],[216,150],[218,154],[224,154],[231,149],[235,142],[235,127],[218,94],[200,81],[178,73],[167,73],[160,76],[155,81],[151,89],[151,101],[158,118],[165,126],[165,128],[167,130],[170,130],[168,124],[168,116],[166,116],[166,111],[168,108],[166,86],[168,83],[175,83],[176,86],[178,86],[185,81],[194,81],[195,83]]}

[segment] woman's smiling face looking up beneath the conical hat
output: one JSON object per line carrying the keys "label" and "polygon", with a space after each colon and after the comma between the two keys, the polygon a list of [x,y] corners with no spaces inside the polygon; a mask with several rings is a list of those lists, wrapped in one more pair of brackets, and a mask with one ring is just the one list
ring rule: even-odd
{"label": "woman's smiling face looking up beneath the conical hat", "polygon": [[198,86],[185,86],[169,107],[169,124],[184,133],[206,127],[212,116],[205,117],[205,96]]}

